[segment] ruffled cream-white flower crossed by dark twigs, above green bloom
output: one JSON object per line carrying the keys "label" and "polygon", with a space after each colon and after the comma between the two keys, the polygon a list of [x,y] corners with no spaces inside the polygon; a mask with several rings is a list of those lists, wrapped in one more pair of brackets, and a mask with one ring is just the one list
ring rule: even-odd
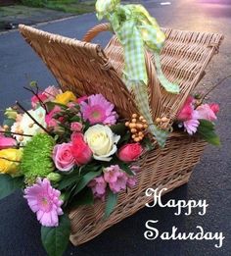
{"label": "ruffled cream-white flower crossed by dark twigs, above green bloom", "polygon": [[[29,110],[28,113],[37,121],[37,123],[39,123],[43,128],[46,128],[46,111],[42,107],[39,107],[36,110]],[[12,126],[11,131],[28,135],[35,135],[37,133],[43,132],[43,129],[35,125],[32,119],[26,113],[24,113],[22,118]],[[15,138],[23,145],[31,139],[29,136],[22,135],[15,135]]]}

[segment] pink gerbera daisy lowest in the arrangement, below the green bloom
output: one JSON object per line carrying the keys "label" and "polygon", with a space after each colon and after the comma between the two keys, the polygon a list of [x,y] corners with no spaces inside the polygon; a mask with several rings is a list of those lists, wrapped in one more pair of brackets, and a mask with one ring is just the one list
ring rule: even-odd
{"label": "pink gerbera daisy lowest in the arrangement, below the green bloom", "polygon": [[24,198],[27,199],[30,209],[45,227],[59,226],[59,215],[64,214],[60,195],[61,192],[51,186],[49,179],[37,179],[35,184],[24,189]]}

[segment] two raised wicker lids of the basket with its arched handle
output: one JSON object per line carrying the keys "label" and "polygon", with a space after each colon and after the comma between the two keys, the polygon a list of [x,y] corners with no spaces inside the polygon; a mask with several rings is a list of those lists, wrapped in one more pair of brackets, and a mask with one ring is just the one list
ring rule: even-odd
{"label": "two raised wicker lids of the basket with its arched handle", "polygon": [[[109,27],[108,24],[95,26],[88,31],[84,40],[90,41]],[[104,51],[97,44],[70,39],[30,26],[20,26],[20,30],[64,89],[70,89],[78,96],[102,93],[115,103],[118,112],[124,117],[138,112],[132,93],[128,92],[121,80],[123,54],[115,36]],[[163,30],[166,41],[162,49],[162,71],[169,80],[180,84],[181,93],[172,95],[162,89],[155,76],[152,54],[146,52],[150,106],[154,119],[162,116],[173,119],[190,91],[203,77],[223,36],[175,29]]]}

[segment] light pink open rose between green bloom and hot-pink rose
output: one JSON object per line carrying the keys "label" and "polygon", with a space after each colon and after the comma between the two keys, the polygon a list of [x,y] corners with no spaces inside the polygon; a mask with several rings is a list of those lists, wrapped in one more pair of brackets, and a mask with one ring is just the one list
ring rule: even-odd
{"label": "light pink open rose between green bloom and hot-pink rose", "polygon": [[71,153],[71,143],[57,144],[53,150],[53,160],[58,170],[71,170],[75,162]]}

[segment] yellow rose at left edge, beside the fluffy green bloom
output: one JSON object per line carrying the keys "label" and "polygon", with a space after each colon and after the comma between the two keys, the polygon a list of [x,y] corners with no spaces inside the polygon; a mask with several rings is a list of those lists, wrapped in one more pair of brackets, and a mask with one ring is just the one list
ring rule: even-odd
{"label": "yellow rose at left edge, beside the fluffy green bloom", "polygon": [[8,148],[0,150],[0,173],[15,175],[20,168],[23,156],[21,149]]}

